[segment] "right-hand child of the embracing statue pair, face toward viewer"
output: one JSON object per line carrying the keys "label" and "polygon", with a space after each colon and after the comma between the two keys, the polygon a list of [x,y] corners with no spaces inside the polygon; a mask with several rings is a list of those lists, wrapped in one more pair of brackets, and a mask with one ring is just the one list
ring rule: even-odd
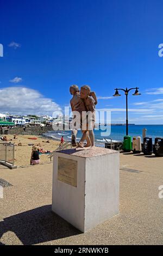
{"label": "right-hand child of the embracing statue pair, face toward viewer", "polygon": [[91,92],[89,86],[82,86],[80,88],[80,99],[84,101],[86,112],[90,113],[90,115],[86,115],[86,120],[85,118],[82,118],[82,124],[83,121],[86,121],[86,129],[83,130],[82,127],[83,136],[80,139],[77,148],[90,147],[90,144],[84,146],[84,141],[85,139],[87,140],[87,138],[90,139],[91,147],[95,147],[95,135],[93,129],[95,127],[95,105],[97,104],[97,97],[95,92]]}

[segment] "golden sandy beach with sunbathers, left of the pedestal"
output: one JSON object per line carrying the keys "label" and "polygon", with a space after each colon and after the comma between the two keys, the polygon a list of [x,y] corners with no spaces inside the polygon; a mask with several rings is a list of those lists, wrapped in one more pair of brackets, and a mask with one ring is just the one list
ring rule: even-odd
{"label": "golden sandy beach with sunbathers, left of the pedestal", "polygon": [[[8,135],[8,139],[13,139],[13,135]],[[36,137],[36,140],[29,139]],[[42,141],[49,141],[49,143],[42,142]],[[34,136],[34,135],[18,135],[17,139],[14,141],[11,141],[11,143],[22,143],[22,146],[15,146],[15,165],[16,166],[28,166],[30,164],[30,155],[32,152],[32,145],[28,144],[34,144],[37,145],[40,143],[43,150],[49,150],[54,151],[59,146],[59,141],[54,141],[53,139],[41,137],[41,136]],[[48,158],[48,154],[41,154],[40,155],[40,162],[41,163],[47,163],[50,162],[50,159]]]}

